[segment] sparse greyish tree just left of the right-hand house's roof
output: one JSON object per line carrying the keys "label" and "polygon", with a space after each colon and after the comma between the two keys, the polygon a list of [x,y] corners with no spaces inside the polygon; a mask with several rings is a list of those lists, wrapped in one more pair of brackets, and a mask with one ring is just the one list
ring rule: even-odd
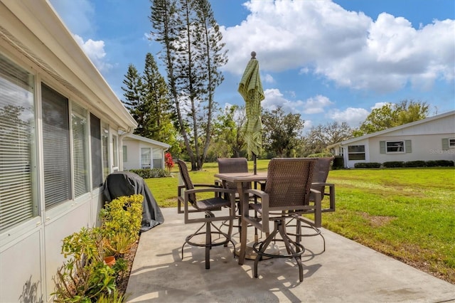
{"label": "sparse greyish tree just left of the right-hand house's roof", "polygon": [[311,127],[304,138],[304,156],[326,151],[328,145],[345,141],[352,137],[352,129],[346,122],[332,122]]}

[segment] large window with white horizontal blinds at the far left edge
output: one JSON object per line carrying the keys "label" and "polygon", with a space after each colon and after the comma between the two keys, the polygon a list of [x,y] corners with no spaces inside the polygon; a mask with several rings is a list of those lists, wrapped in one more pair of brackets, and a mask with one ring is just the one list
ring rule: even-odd
{"label": "large window with white horizontal blinds at the far left edge", "polygon": [[38,216],[34,78],[0,55],[0,233]]}

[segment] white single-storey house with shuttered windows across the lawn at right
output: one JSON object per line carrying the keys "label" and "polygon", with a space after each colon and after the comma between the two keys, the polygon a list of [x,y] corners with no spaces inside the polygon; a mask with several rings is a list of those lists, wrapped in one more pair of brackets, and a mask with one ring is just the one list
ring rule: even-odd
{"label": "white single-storey house with shuttered windows across the lawn at right", "polygon": [[455,161],[455,110],[332,144],[328,149],[343,156],[346,168],[365,162]]}

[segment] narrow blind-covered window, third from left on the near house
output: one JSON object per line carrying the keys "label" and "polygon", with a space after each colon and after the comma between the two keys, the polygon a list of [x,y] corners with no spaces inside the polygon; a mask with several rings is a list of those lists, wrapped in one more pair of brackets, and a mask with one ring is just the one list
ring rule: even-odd
{"label": "narrow blind-covered window, third from left on the near house", "polygon": [[88,182],[88,135],[87,110],[75,102],[71,104],[73,126],[73,176],[74,196],[77,198],[89,191]]}

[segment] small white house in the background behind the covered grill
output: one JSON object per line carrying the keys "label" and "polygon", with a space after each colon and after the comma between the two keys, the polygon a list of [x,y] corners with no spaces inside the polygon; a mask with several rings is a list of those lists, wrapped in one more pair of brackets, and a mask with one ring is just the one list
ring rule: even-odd
{"label": "small white house in the background behind the covered grill", "polygon": [[164,153],[171,145],[129,134],[123,139],[124,169],[164,169]]}

